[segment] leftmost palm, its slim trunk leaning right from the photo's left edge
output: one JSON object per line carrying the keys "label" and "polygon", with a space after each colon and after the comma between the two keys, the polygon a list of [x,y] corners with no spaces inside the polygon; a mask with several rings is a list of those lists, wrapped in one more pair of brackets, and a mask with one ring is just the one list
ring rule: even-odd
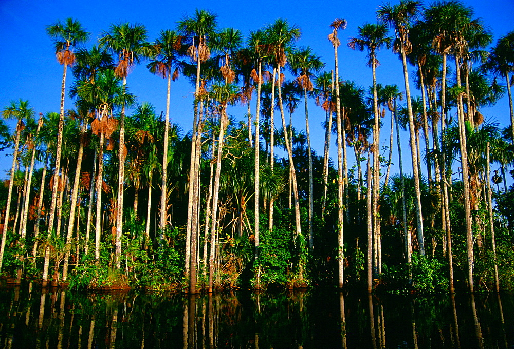
{"label": "leftmost palm, its slim trunk leaning right from the photo's left edge", "polygon": [[16,132],[14,136],[14,150],[12,153],[12,166],[9,179],[9,191],[7,192],[7,204],[5,210],[5,219],[2,229],[2,242],[0,242],[0,270],[2,270],[2,263],[4,260],[5,242],[7,238],[7,227],[9,224],[9,214],[12,200],[12,188],[14,185],[14,173],[16,167],[16,161],[20,151],[20,135],[24,128],[23,120],[31,118],[34,110],[30,108],[29,102],[20,99],[19,101],[11,101],[9,106],[2,110],[2,115],[6,119],[16,119]]}

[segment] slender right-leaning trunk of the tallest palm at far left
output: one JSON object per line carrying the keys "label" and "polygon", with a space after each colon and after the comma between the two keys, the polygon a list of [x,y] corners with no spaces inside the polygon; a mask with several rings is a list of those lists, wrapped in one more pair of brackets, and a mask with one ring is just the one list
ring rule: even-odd
{"label": "slender right-leaning trunk of the tallest palm at far left", "polygon": [[[61,168],[61,152],[62,152],[62,140],[63,140],[63,128],[64,128],[64,93],[66,90],[66,68],[67,65],[63,65],[63,80],[61,84],[61,113],[59,114],[59,126],[57,129],[57,152],[56,152],[56,164],[55,164],[55,170],[56,173],[54,173],[54,181],[53,181],[53,188],[52,188],[52,201],[50,204],[50,214],[48,218],[48,239],[51,237],[51,230],[53,229],[53,223],[54,218],[56,215],[56,203],[57,203],[57,197],[58,197],[58,183],[57,180],[59,177],[59,169]],[[45,250],[45,262],[43,265],[43,287],[46,287],[46,284],[48,282],[48,266],[50,264],[50,251],[48,248]]]}

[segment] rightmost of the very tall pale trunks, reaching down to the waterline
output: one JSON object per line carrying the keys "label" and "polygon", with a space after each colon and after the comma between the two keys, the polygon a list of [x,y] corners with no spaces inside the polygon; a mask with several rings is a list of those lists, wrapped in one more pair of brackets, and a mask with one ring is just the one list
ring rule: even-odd
{"label": "rightmost of the very tall pale trunks, reaching down to the waterline", "polygon": [[[457,86],[461,87],[461,74],[460,74],[460,57],[455,57],[455,70],[457,76]],[[469,175],[468,175],[468,150],[466,145],[466,126],[464,124],[464,106],[462,102],[462,95],[458,95],[458,128],[460,133],[460,148],[461,148],[461,164],[462,164],[462,182],[464,186],[464,215],[466,221],[466,249],[468,257],[468,287],[469,292],[473,293],[473,232],[471,225],[471,207],[469,200]]]}

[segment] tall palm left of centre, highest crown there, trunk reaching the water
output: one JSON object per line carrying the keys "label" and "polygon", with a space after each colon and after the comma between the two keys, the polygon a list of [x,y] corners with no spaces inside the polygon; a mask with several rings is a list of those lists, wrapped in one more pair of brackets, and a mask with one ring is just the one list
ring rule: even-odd
{"label": "tall palm left of centre, highest crown there, trunk reaching the water", "polygon": [[[201,112],[200,98],[200,67],[201,63],[209,59],[210,50],[207,46],[210,37],[216,29],[216,15],[206,10],[195,10],[191,17],[183,17],[178,22],[178,30],[191,40],[188,54],[196,62],[196,85],[195,85],[195,113],[193,119],[193,142],[191,145],[191,166],[189,176],[189,199],[188,199],[188,223],[186,230],[186,263],[185,275],[189,278],[189,290],[196,293],[196,231],[198,225],[198,176],[200,160],[196,157],[199,154],[199,143],[201,133],[198,126],[201,120],[198,112]],[[194,234],[193,234],[194,232]]]}

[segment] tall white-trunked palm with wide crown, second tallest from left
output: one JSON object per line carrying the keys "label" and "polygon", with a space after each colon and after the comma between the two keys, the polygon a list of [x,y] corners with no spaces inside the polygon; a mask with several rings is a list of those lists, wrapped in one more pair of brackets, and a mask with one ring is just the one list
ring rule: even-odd
{"label": "tall white-trunked palm with wide crown, second tallest from left", "polygon": [[[158,46],[146,42],[146,28],[141,24],[129,23],[112,24],[109,31],[104,31],[98,40],[101,47],[108,48],[117,54],[119,61],[114,72],[123,79],[126,86],[126,77],[135,64],[144,58],[152,58],[158,54]],[[121,107],[121,120],[119,129],[119,172],[118,172],[118,203],[116,219],[116,253],[115,264],[121,266],[121,229],[123,226],[123,187],[125,182],[125,106]]]}

